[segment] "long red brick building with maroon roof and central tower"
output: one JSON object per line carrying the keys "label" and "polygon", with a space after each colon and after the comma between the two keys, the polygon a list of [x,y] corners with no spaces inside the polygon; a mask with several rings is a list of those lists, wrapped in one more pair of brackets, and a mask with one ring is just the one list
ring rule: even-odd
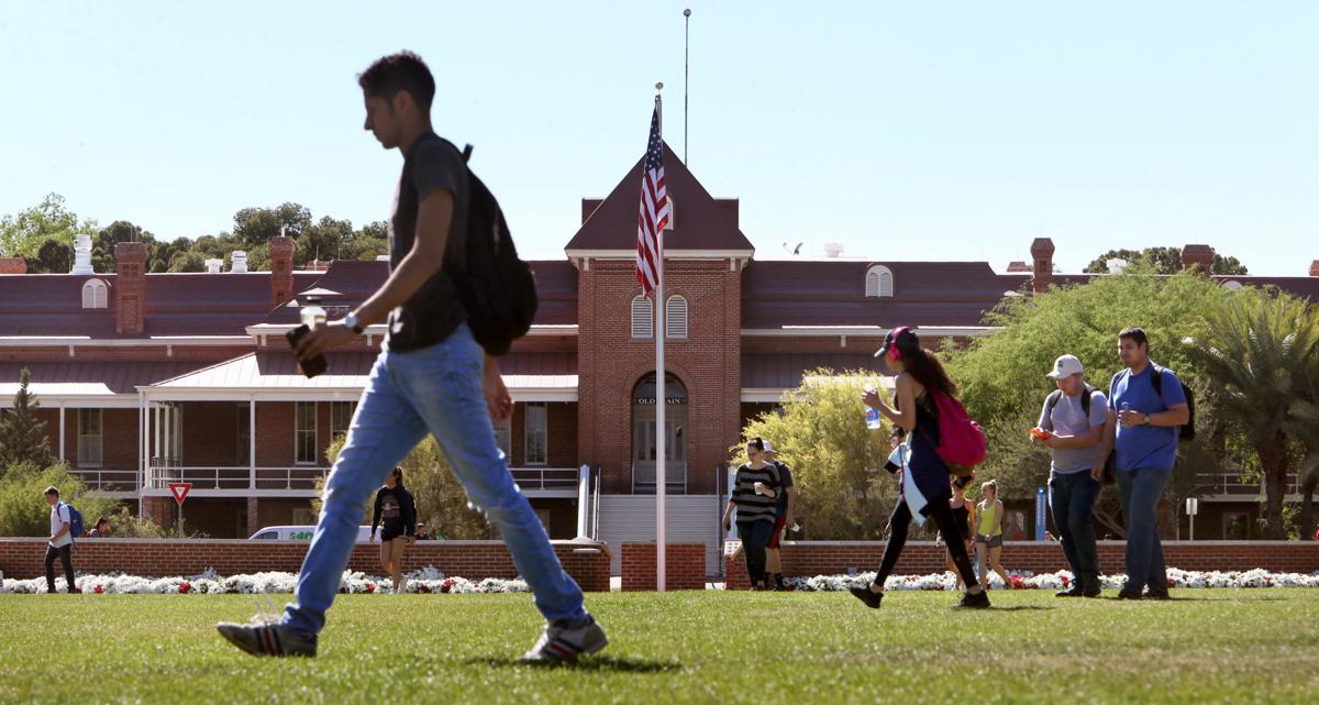
{"label": "long red brick building with maroon roof and central tower", "polygon": [[[1005,293],[1088,279],[1054,273],[1047,239],[1005,273],[984,261],[758,260],[739,202],[708,194],[667,149],[666,165],[667,428],[654,428],[653,310],[633,272],[640,161],[608,197],[582,201],[565,259],[533,263],[536,325],[503,360],[517,405],[500,444],[554,537],[653,537],[644,495],[656,488],[663,432],[667,487],[679,495],[674,539],[706,543],[714,561],[727,449],[805,370],[876,370],[872,351],[897,325],[933,339],[989,334],[981,317]],[[1188,246],[1183,256],[1202,265],[1212,250]],[[0,260],[0,407],[29,368],[58,455],[157,521],[174,521],[168,483],[183,479],[189,527],[214,537],[313,523],[324,449],[347,428],[384,326],[328,355],[330,371],[313,380],[282,335],[310,296],[331,317],[347,313],[386,264],[295,272],[285,238],[270,243],[273,272],[145,273],[138,243],[115,257],[117,273],[91,272],[80,257],[69,275]],[[1307,277],[1219,279],[1319,300],[1319,263]],[[583,485],[590,512],[578,511]],[[1228,485],[1221,495],[1232,499]]]}

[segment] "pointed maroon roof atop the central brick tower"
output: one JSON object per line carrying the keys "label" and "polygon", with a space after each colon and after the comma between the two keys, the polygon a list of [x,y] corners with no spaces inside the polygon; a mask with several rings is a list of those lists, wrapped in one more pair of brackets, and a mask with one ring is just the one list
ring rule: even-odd
{"label": "pointed maroon roof atop the central brick tower", "polygon": [[[637,205],[641,202],[641,158],[628,169],[609,195],[586,218],[566,251],[637,248]],[[678,154],[663,145],[665,189],[673,203],[669,251],[745,251],[754,247],[737,227],[737,201],[718,199],[696,181]]]}

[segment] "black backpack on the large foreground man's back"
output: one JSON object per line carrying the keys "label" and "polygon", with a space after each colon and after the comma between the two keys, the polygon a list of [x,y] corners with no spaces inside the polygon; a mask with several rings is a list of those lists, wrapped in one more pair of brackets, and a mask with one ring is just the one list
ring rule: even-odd
{"label": "black backpack on the large foreground man's back", "polygon": [[[468,144],[463,149],[463,162],[471,156],[472,145]],[[537,308],[536,275],[518,259],[495,194],[476,178],[471,166],[467,180],[466,261],[454,283],[467,309],[472,335],[487,354],[497,358],[532,329]]]}

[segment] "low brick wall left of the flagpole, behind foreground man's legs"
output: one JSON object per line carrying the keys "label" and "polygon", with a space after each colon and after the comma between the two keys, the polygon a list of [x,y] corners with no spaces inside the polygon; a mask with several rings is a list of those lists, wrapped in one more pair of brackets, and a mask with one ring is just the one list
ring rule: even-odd
{"label": "low brick wall left of the flagpole, behind foreground man's legs", "polygon": [[[609,551],[604,544],[553,541],[563,568],[587,591],[609,590]],[[306,541],[79,539],[74,570],[135,576],[191,576],[214,568],[222,576],[285,570],[297,573]],[[45,574],[45,539],[0,539],[0,572],[7,578]],[[434,565],[468,580],[514,578],[517,568],[503,541],[418,541],[404,553],[404,570]],[[58,569],[58,564],[55,566]],[[348,568],[383,574],[380,544],[357,544]]]}

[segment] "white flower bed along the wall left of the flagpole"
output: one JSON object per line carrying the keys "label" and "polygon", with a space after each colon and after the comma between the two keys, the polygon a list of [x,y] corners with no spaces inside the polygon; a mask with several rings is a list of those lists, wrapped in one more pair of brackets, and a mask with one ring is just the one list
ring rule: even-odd
{"label": "white flower bed along the wall left of the flagpole", "polygon": [[[435,566],[426,566],[406,574],[408,582],[404,585],[405,593],[439,593],[439,594],[470,594],[470,593],[526,593],[530,591],[522,580],[485,578],[483,581],[470,581],[467,578],[445,577]],[[291,593],[298,582],[297,573],[252,573],[241,576],[222,577],[212,569],[207,569],[199,576],[173,577],[173,578],[144,578],[138,576],[125,576],[111,573],[106,576],[78,576],[74,585],[83,594],[257,594],[257,593]],[[67,585],[62,577],[55,578],[55,590],[67,591]],[[3,580],[0,581],[0,594],[45,593],[46,578],[32,580]],[[340,593],[392,593],[393,581],[388,577],[367,576],[365,573],[343,572],[339,580]]]}

